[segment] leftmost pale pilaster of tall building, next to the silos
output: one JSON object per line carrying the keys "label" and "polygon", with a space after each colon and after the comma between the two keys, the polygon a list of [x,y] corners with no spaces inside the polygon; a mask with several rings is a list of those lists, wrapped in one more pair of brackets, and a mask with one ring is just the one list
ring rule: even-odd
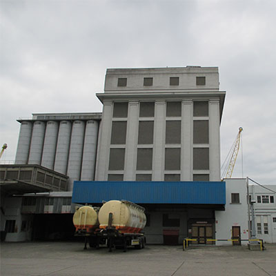
{"label": "leftmost pale pilaster of tall building, next to the silos", "polygon": [[108,179],[108,156],[112,127],[112,101],[103,101],[103,117],[101,120],[101,139],[99,140],[99,156],[95,180]]}

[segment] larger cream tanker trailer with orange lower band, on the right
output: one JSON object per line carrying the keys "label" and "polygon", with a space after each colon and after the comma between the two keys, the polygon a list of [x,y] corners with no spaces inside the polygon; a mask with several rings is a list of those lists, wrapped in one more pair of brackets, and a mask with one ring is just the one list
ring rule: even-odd
{"label": "larger cream tanker trailer with orange lower band, on the right", "polygon": [[109,250],[127,246],[144,248],[146,237],[141,230],[146,226],[145,209],[126,200],[110,200],[99,210],[100,235],[106,237]]}

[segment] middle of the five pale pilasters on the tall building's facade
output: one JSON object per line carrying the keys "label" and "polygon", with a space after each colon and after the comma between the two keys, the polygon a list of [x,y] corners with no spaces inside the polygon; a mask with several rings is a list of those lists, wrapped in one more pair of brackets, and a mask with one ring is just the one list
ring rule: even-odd
{"label": "middle of the five pale pilasters on the tall building's facade", "polygon": [[164,180],[166,101],[155,101],[152,181]]}

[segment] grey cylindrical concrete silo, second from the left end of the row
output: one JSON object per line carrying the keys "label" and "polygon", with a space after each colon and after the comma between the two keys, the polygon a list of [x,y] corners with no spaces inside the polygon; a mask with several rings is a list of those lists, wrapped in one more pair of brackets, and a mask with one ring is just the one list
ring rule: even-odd
{"label": "grey cylindrical concrete silo, second from the left end of the row", "polygon": [[44,135],[45,123],[43,121],[35,121],[32,128],[32,139],[30,141],[30,154],[28,164],[40,165]]}

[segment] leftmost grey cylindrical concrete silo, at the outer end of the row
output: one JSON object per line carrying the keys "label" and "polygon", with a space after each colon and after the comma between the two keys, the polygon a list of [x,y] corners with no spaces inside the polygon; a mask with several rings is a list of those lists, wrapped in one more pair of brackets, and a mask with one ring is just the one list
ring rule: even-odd
{"label": "leftmost grey cylindrical concrete silo, at the outer end of the row", "polygon": [[17,155],[15,157],[15,164],[28,164],[31,137],[32,122],[22,121],[17,144]]}

